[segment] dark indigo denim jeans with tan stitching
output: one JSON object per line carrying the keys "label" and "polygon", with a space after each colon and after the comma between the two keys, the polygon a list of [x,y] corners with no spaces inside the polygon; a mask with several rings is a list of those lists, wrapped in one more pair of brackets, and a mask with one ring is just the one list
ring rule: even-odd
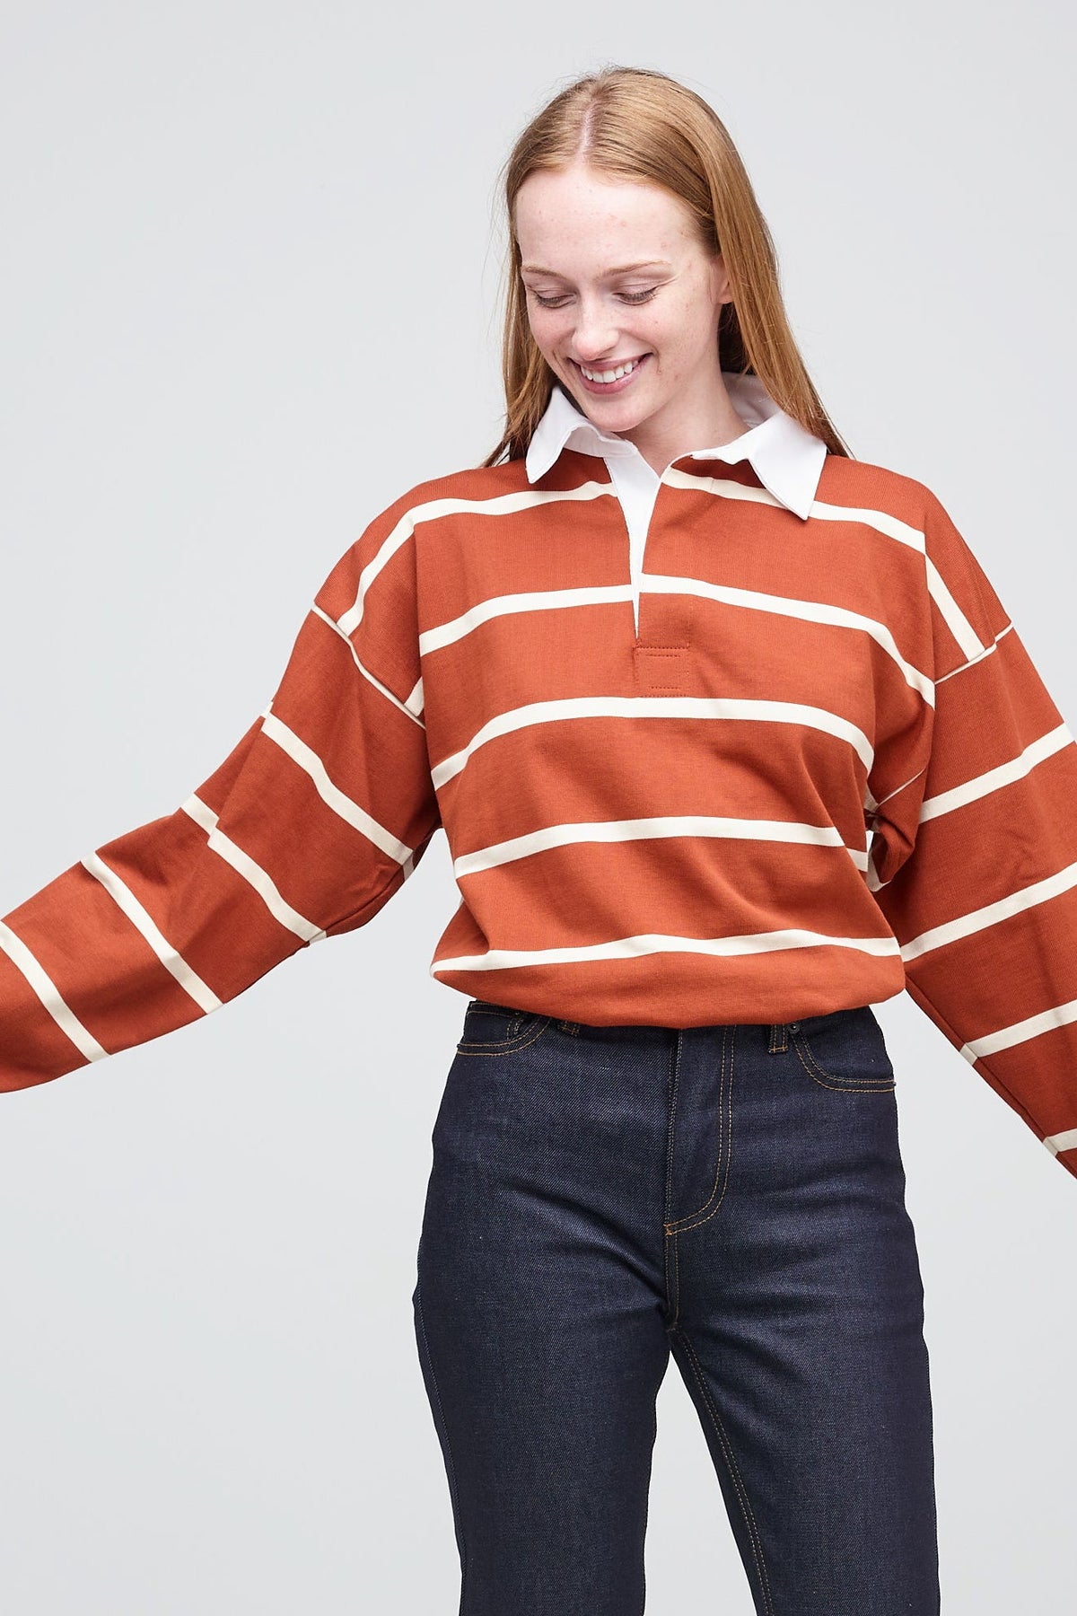
{"label": "dark indigo denim jeans with tan stitching", "polygon": [[761,1616],[937,1616],[924,1288],[870,1005],[677,1029],[470,1000],[417,1269],[460,1616],[643,1611],[670,1351]]}

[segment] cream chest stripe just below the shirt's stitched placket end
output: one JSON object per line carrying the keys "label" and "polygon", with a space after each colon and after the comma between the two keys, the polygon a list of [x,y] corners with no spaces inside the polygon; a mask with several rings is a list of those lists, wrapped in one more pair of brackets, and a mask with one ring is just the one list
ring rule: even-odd
{"label": "cream chest stripe just below the shirt's stitched placket end", "polygon": [[581,718],[696,718],[696,719],[749,719],[752,722],[806,724],[836,735],[857,753],[865,769],[872,766],[872,743],[867,735],[836,713],[807,706],[801,701],[749,701],[733,696],[565,696],[555,701],[530,701],[509,713],[497,713],[460,751],[442,758],[431,769],[434,787],[450,781],[467,764],[468,758],[486,742],[509,735],[530,724],[554,724]]}

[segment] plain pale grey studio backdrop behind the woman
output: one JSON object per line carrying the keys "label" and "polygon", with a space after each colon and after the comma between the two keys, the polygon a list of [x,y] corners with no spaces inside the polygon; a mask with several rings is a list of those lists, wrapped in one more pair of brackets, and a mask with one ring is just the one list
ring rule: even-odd
{"label": "plain pale grey studio backdrop behind the woman", "polygon": [[[371,516],[492,448],[496,171],[602,61],[673,73],[727,121],[838,428],[938,493],[1077,722],[1071,29],[1061,3],[954,0],[8,3],[0,913],[170,813]],[[0,1096],[19,1616],[457,1610],[410,1311],[465,1004],[428,974],[455,900],[439,834],[376,934]],[[878,1016],[943,1608],[1061,1616],[1077,1185],[907,995]],[[751,1613],[673,1364],[647,1585],[654,1616]]]}

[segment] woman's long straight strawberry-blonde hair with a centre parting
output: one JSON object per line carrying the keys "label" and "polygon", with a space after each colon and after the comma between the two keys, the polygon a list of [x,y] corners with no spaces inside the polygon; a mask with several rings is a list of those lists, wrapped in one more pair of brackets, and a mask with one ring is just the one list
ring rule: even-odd
{"label": "woman's long straight strawberry-blonde hair with a centre parting", "polygon": [[733,301],[722,305],[719,318],[722,368],[757,377],[780,409],[822,438],[832,454],[851,459],[793,338],[770,229],[725,124],[701,95],[665,73],[607,66],[575,79],[547,102],[502,170],[509,231],[505,425],[501,443],[481,464],[526,454],[549,404],[554,372],[528,323],[515,204],[528,175],[565,168],[576,157],[602,175],[664,186],[688,205],[699,239],[707,250],[722,254],[730,278]]}

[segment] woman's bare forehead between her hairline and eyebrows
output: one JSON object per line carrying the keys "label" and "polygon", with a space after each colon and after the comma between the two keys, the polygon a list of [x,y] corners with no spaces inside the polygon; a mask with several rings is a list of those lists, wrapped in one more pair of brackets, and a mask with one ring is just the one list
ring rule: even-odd
{"label": "woman's bare forehead between her hairline and eyebrows", "polygon": [[683,259],[699,247],[680,197],[585,166],[528,175],[517,192],[515,231],[523,262],[546,268]]}

